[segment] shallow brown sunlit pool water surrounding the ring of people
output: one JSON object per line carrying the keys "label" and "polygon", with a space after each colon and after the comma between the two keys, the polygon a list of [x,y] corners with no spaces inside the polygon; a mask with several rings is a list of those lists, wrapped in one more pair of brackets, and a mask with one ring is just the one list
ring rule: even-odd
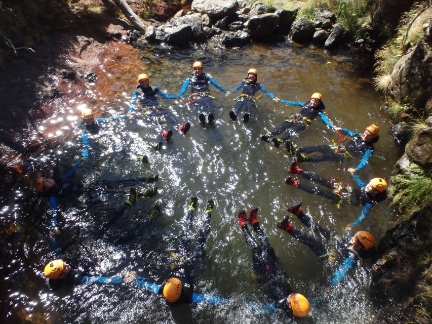
{"label": "shallow brown sunlit pool water surrounding the ring of people", "polygon": [[[375,155],[359,175],[365,181],[377,176],[388,179],[399,150],[388,136],[390,123],[379,109],[380,98],[373,92],[369,75],[356,70],[349,58],[286,44],[253,44],[241,52],[220,50],[213,45],[207,51],[142,52],[127,45],[115,45],[95,71],[98,81],[73,98],[64,97],[58,113],[43,125],[42,133],[52,144],[50,149],[33,154],[31,164],[36,170],[45,166],[45,171],[58,178],[82,151],[81,138],[74,134],[80,105],[86,104],[98,116],[125,113],[136,76],[142,72],[149,74],[151,86],[177,94],[191,73],[192,62],[197,59],[203,61],[206,73],[229,90],[254,67],[258,69],[258,82],[280,98],[304,102],[313,92],[321,92],[326,114],[335,125],[362,132],[365,126],[378,124],[381,138],[375,144]],[[278,150],[262,142],[260,136],[282,123],[290,113],[297,112],[299,107],[276,103],[263,95],[248,124],[233,123],[228,111],[235,104],[234,96],[225,98],[214,87],[212,92],[218,107],[214,128],[203,129],[192,108],[160,99],[161,104],[171,107],[179,121],[188,120],[192,126],[186,137],[174,132],[161,152],[148,147],[160,128],[138,118],[107,124],[96,138],[90,138],[91,143],[99,142],[93,145],[97,153],[83,165],[73,181],[90,184],[158,172],[159,193],[126,212],[102,238],[96,238],[99,229],[127,194],[107,194],[104,204],[98,206],[86,205],[84,197],[62,204],[58,242],[65,258],[94,275],[124,275],[133,270],[160,283],[170,273],[170,252],[178,245],[187,198],[196,195],[199,199],[195,233],[203,219],[205,201],[212,198],[215,209],[207,258],[204,270],[195,279],[195,290],[266,303],[259,286],[251,279],[252,253],[235,217],[239,210],[248,211],[256,206],[260,209],[261,226],[283,263],[292,288],[310,300],[320,299],[302,322],[348,323],[353,318],[356,322],[372,322],[374,308],[367,290],[368,262],[352,271],[342,284],[327,289],[329,275],[336,265],[324,264],[305,246],[276,228],[285,217],[286,208],[298,201],[303,201],[304,210],[314,220],[335,228],[338,234],[360,214],[360,209],[350,206],[337,209],[323,197],[284,183],[290,156],[284,146]],[[295,142],[315,145],[329,143],[332,139],[335,134],[326,130],[318,118]],[[148,155],[149,164],[137,161],[137,156],[142,154]],[[356,165],[324,162],[303,163],[300,167],[327,178],[339,176],[352,183],[346,169]],[[145,187],[151,185],[141,186]],[[53,255],[43,225],[50,217],[48,205],[34,195],[30,186],[17,184],[16,189],[1,215],[7,225],[20,226],[14,234],[4,233],[6,245],[1,273],[5,279],[1,292],[3,307],[9,312],[6,321],[16,322],[16,318],[59,323],[286,321],[283,314],[259,312],[243,303],[171,308],[143,288],[127,284],[84,285],[50,293],[42,276],[44,265]],[[139,226],[154,203],[163,206],[163,215],[142,235],[126,244],[115,244],[115,239]],[[295,217],[292,223],[295,228],[306,231]],[[369,228],[379,238],[390,223],[388,202],[385,202],[372,209],[362,229]]]}

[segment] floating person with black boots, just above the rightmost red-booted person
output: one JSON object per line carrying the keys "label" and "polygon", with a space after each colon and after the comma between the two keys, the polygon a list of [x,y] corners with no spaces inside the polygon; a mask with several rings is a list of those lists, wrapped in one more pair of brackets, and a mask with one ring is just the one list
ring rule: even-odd
{"label": "floating person with black boots, just above the rightmost red-booted person", "polygon": [[[336,132],[340,132],[339,139],[340,144],[336,145],[313,145],[306,147],[298,147],[292,143],[292,141],[286,142],[286,146],[289,154],[295,154],[296,162],[300,163],[303,161],[309,162],[321,162],[321,161],[338,161],[342,162],[345,159],[352,160],[356,157],[362,157],[359,165],[355,168],[349,168],[348,172],[355,173],[362,169],[367,163],[369,158],[372,156],[374,147],[373,144],[379,140],[379,128],[372,124],[366,127],[363,135],[352,132],[346,128],[329,126]],[[343,136],[342,136],[343,135]],[[351,137],[351,140],[347,143],[344,142],[344,137]],[[323,153],[317,156],[306,156],[305,153],[320,152]]]}

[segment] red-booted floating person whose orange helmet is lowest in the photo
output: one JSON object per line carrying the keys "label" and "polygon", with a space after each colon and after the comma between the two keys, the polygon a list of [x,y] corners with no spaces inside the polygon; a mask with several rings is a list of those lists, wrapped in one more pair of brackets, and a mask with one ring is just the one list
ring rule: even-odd
{"label": "red-booted floating person whose orange helmet is lowest in the photo", "polygon": [[[244,210],[237,214],[246,243],[252,249],[252,277],[265,289],[275,308],[282,309],[293,319],[295,316],[304,317],[309,313],[309,302],[303,295],[294,293],[291,289],[284,267],[259,225],[257,213],[258,209],[253,208],[247,218]],[[249,232],[247,221],[251,223],[261,244]]]}

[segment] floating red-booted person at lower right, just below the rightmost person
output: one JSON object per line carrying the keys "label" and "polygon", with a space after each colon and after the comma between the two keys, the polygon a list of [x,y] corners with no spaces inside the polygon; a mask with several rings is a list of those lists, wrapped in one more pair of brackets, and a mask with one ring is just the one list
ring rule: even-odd
{"label": "floating red-booted person at lower right, just below the rightmost person", "polygon": [[296,240],[309,247],[318,257],[329,263],[333,263],[332,261],[336,261],[336,259],[343,260],[340,267],[331,276],[331,286],[341,282],[358,260],[369,259],[375,255],[375,237],[371,233],[358,231],[349,240],[348,237],[344,240],[337,240],[329,230],[314,222],[309,215],[303,214],[300,206],[301,203],[288,208],[288,211],[296,215],[304,225],[320,236],[321,240],[294,229],[289,221],[289,216],[281,221],[278,227],[290,233]]}

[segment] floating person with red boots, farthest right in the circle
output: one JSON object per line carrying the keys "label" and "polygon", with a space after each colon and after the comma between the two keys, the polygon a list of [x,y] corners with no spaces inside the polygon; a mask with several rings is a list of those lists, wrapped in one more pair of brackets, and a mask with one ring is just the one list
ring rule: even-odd
{"label": "floating person with red boots, farthest right in the circle", "polygon": [[307,186],[299,183],[292,177],[288,177],[285,180],[286,184],[332,200],[337,204],[338,208],[343,203],[348,203],[353,206],[365,206],[360,213],[359,218],[355,222],[352,222],[350,227],[360,224],[374,204],[379,203],[380,201],[387,198],[387,182],[382,178],[373,178],[369,181],[369,183],[366,183],[363,182],[356,174],[352,174],[352,178],[354,178],[356,184],[359,186],[358,188],[352,188],[348,183],[338,181],[337,178],[332,178],[330,180],[323,179],[313,172],[307,172],[300,169],[295,164],[291,165],[289,173],[299,174],[305,179],[331,189],[331,191],[328,191],[319,187]]}

